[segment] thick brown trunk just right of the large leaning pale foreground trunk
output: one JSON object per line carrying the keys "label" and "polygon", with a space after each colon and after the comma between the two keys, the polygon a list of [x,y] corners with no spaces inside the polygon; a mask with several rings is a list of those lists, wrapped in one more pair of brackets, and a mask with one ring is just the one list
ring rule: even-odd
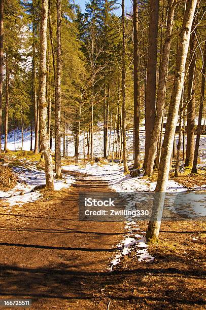
{"label": "thick brown trunk just right of the large leaning pale foreground trunk", "polygon": [[187,105],[187,149],[185,166],[192,167],[194,158],[194,134],[195,134],[195,67],[197,60],[197,40],[195,31],[191,33],[190,37],[190,65],[188,72],[188,105]]}

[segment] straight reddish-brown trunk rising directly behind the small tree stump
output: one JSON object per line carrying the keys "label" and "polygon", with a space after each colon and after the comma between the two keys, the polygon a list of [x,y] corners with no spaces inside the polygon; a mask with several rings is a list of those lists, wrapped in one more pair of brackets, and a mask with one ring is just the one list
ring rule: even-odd
{"label": "straight reddish-brown trunk rising directly behind the small tree stump", "polygon": [[133,0],[134,40],[134,169],[140,168],[140,106],[139,106],[139,50],[138,50],[138,0]]}

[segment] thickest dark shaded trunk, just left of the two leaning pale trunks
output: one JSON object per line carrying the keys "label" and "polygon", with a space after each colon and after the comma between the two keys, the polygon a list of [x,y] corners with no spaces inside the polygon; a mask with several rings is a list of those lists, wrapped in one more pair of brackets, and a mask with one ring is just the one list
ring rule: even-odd
{"label": "thickest dark shaded trunk, just left of the two leaning pale trunks", "polygon": [[[159,0],[150,1],[149,47],[147,64],[146,120],[145,120],[145,159],[143,168],[147,168],[150,141],[155,123],[156,70],[157,70],[157,33],[158,33]],[[160,128],[157,134],[159,135]],[[157,147],[157,138],[156,147]],[[155,148],[156,151],[156,148]],[[154,153],[155,153],[154,151]],[[152,167],[154,166],[154,161]],[[150,169],[151,170],[151,169]]]}

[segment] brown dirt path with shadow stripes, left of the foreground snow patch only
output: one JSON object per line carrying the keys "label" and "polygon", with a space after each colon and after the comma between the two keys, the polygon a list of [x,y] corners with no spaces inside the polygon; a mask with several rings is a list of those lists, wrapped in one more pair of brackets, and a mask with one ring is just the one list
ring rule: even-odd
{"label": "brown dirt path with shadow stripes, left of the foreground snow patch only", "polygon": [[76,177],[60,198],[0,214],[1,298],[32,299],[33,309],[102,308],[95,302],[102,287],[99,275],[104,274],[105,284],[110,281],[105,270],[124,224],[79,221],[79,192],[110,189],[97,176]]}

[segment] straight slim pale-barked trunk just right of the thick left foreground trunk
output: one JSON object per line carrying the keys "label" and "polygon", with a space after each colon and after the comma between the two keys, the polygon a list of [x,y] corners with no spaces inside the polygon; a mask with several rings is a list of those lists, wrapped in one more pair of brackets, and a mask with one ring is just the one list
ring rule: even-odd
{"label": "straight slim pale-barked trunk just right of the thick left foreground trunk", "polygon": [[61,0],[57,0],[56,101],[55,101],[55,168],[56,178],[61,175]]}

